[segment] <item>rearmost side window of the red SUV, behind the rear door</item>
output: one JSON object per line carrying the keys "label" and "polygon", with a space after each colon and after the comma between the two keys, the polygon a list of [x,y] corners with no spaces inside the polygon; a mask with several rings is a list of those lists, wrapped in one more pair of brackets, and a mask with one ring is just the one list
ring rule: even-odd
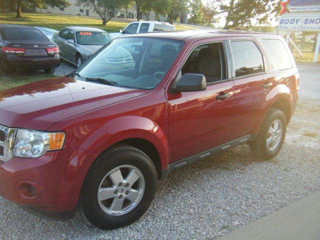
{"label": "rearmost side window of the red SUV, behind the rear door", "polygon": [[278,39],[262,39],[267,57],[277,70],[292,68],[292,63],[285,46]]}

